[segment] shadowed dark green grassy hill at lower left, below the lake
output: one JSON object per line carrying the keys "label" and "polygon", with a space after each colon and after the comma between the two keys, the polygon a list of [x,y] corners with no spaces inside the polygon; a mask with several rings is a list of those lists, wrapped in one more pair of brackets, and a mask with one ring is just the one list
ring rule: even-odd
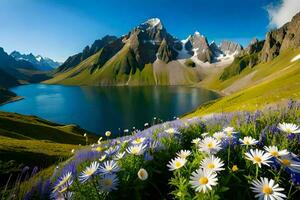
{"label": "shadowed dark green grassy hill at lower left, below the lake", "polygon": [[[24,166],[46,168],[71,156],[85,145],[85,130],[34,116],[0,112],[0,187]],[[89,135],[95,142],[96,136]]]}

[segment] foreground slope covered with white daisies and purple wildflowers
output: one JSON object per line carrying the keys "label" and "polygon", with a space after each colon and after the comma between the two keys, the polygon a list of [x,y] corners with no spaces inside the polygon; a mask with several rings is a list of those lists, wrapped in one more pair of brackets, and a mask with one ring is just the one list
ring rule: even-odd
{"label": "foreground slope covered with white daisies and purple wildflowers", "polygon": [[[99,138],[25,199],[299,199],[300,104]],[[86,138],[88,143],[88,138]]]}

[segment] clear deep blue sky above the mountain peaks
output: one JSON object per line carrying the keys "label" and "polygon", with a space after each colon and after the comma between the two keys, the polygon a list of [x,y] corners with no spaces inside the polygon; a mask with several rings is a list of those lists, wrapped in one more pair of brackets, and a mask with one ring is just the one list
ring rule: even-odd
{"label": "clear deep blue sky above the mountain peaks", "polygon": [[59,61],[106,34],[123,35],[158,17],[173,36],[194,31],[243,45],[264,38],[266,7],[280,0],[1,0],[0,47]]}

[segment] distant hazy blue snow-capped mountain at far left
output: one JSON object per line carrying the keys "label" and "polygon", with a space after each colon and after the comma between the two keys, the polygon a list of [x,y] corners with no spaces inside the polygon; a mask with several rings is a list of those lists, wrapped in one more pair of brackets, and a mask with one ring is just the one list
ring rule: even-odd
{"label": "distant hazy blue snow-capped mountain at far left", "polygon": [[32,53],[21,54],[18,51],[13,51],[10,55],[14,57],[17,61],[24,60],[30,62],[37,70],[40,71],[50,71],[61,65],[61,63],[56,62],[50,58],[42,57],[40,55],[35,56]]}

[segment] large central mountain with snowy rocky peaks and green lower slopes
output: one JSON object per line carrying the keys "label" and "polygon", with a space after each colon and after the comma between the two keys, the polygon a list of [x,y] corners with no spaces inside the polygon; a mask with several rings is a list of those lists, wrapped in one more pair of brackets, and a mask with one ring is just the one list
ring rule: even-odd
{"label": "large central mountain with snowy rocky peaks and green lower slopes", "polygon": [[240,49],[223,52],[216,44],[208,44],[199,32],[180,41],[167,32],[160,19],[152,18],[122,37],[105,36],[96,40],[91,47],[69,57],[55,70],[54,78],[44,83],[192,84],[201,80],[202,67],[228,65],[226,59],[233,60],[234,53]]}

